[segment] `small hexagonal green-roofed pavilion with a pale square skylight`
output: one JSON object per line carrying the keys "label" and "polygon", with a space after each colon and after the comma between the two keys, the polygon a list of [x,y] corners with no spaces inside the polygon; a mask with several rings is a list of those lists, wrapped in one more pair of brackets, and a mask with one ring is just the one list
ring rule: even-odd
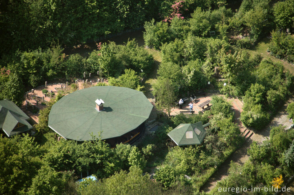
{"label": "small hexagonal green-roofed pavilion with a pale square skylight", "polygon": [[168,136],[178,145],[200,145],[206,135],[202,122],[194,124],[179,124],[168,133]]}

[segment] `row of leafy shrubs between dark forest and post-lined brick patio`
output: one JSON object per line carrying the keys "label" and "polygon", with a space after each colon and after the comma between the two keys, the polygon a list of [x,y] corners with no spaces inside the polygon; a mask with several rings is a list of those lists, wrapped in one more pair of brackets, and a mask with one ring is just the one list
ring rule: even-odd
{"label": "row of leafy shrubs between dark forest and post-lined brick patio", "polygon": [[55,78],[71,80],[82,78],[83,73],[86,76],[89,73],[96,75],[97,71],[104,77],[118,77],[124,69],[130,68],[139,76],[146,77],[153,67],[153,57],[143,47],[138,47],[135,40],[125,45],[104,43],[99,49],[91,52],[88,58],[79,54],[67,56],[62,53],[60,45],[52,45],[46,50],[18,50],[13,55],[7,55],[0,61],[3,66],[0,70],[0,98],[10,99],[20,105],[21,94],[24,93],[22,82],[26,86],[36,87]]}

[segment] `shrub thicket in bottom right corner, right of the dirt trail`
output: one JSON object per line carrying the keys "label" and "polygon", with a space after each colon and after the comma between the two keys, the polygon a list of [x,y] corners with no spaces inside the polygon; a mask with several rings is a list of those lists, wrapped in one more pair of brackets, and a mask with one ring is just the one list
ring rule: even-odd
{"label": "shrub thicket in bottom right corner, right of the dirt trail", "polygon": [[[273,127],[270,130],[270,140],[263,141],[261,145],[256,142],[251,143],[248,149],[250,160],[243,166],[237,163],[231,163],[228,170],[229,176],[218,182],[216,189],[219,187],[240,186],[251,189],[255,187],[271,187],[275,185],[275,178],[289,178],[293,175],[293,143],[294,130],[285,130],[283,126]],[[290,160],[291,159],[291,160]],[[241,174],[241,177],[240,177]],[[281,186],[285,181],[280,182]],[[261,192],[261,190],[260,190]],[[235,194],[236,192],[218,192],[218,194]],[[263,194],[272,194],[264,192]]]}

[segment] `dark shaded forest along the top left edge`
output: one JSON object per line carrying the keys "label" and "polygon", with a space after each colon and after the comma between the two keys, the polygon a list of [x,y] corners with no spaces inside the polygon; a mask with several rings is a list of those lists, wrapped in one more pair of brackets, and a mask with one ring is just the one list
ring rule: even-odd
{"label": "dark shaded forest along the top left edge", "polygon": [[[186,1],[185,15],[196,6],[215,8],[225,1]],[[147,1],[5,1],[1,5],[1,53],[86,42],[134,29],[144,21],[169,16],[174,0]],[[159,14],[158,14],[159,13]]]}

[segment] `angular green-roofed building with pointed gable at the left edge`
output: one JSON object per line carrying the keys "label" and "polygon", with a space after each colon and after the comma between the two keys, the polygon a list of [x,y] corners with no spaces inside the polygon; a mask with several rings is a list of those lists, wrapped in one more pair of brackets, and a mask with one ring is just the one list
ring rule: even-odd
{"label": "angular green-roofed building with pointed gable at the left edge", "polygon": [[29,119],[13,102],[6,99],[0,101],[0,129],[8,137],[33,129],[27,122]]}

